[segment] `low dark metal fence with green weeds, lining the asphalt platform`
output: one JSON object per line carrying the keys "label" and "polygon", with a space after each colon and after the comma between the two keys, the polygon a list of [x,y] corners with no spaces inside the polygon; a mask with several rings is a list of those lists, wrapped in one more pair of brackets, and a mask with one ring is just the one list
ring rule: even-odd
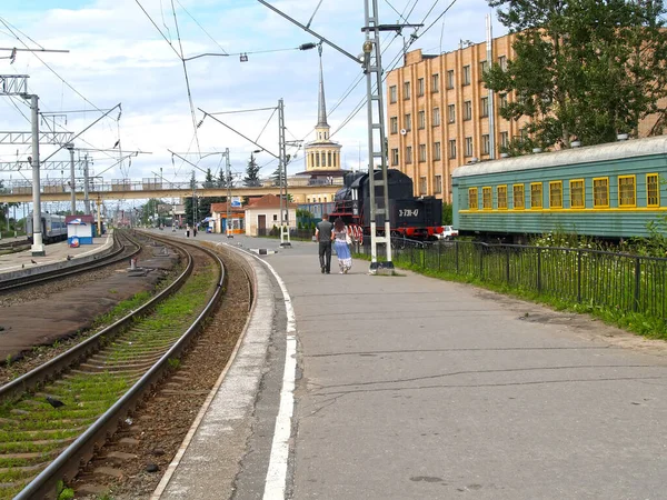
{"label": "low dark metal fence with green weeds, lining the asphalt platform", "polygon": [[[365,244],[358,251],[369,256],[370,247]],[[397,239],[392,241],[392,261],[667,320],[667,259],[587,249]]]}

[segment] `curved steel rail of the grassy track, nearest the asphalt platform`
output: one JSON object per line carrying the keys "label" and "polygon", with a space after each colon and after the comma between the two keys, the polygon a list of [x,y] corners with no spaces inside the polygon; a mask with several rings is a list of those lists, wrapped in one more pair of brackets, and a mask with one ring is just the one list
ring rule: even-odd
{"label": "curved steel rail of the grassy track, nearest the asphalt platform", "polygon": [[[152,237],[152,236],[151,236]],[[156,238],[161,240],[160,238]],[[168,241],[163,239],[162,241]],[[183,244],[181,242],[181,244]],[[220,276],[216,286],[216,291],[202,312],[197,317],[188,330],[175,342],[175,344],[156,362],[111,408],[109,408],[98,420],[96,420],[74,442],[66,448],[37,478],[34,478],[14,500],[34,500],[46,497],[52,497],[57,482],[73,478],[81,463],[87,462],[93,457],[96,448],[102,446],[110,434],[117,430],[122,418],[135,409],[137,403],[143,398],[146,391],[156,386],[170,369],[169,360],[179,358],[187,349],[189,342],[199,331],[203,320],[215,310],[223,290],[225,266],[220,258],[209,249],[185,243],[190,247],[208,253],[218,262]],[[192,264],[191,256],[190,264]],[[189,267],[191,272],[191,267]],[[181,274],[182,276],[182,274]],[[167,291],[167,290],[166,290]]]}

